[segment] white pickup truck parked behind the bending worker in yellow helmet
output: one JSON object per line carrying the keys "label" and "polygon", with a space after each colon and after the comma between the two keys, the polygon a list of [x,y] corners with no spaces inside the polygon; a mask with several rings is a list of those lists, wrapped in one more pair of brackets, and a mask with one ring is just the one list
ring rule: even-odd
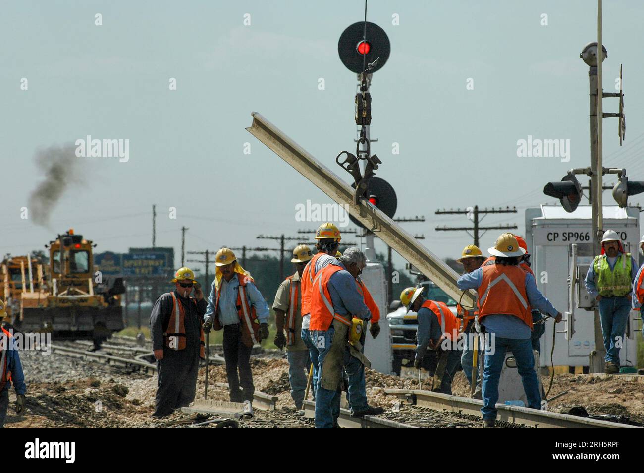
{"label": "white pickup truck parked behind the bending worker in yellow helmet", "polygon": [[[444,302],[453,314],[456,315],[457,302],[446,294],[440,287],[425,280],[419,283],[425,287],[422,295],[430,300]],[[393,363],[392,369],[397,374],[401,375],[403,367],[412,367],[413,360],[416,356],[416,333],[418,331],[418,322],[416,320],[416,313],[410,311],[406,313],[407,309],[399,300],[395,300],[390,305],[390,313],[387,314],[387,320],[392,333],[392,352]],[[422,367],[433,375],[436,368],[436,352],[428,350],[425,358],[422,360]]]}

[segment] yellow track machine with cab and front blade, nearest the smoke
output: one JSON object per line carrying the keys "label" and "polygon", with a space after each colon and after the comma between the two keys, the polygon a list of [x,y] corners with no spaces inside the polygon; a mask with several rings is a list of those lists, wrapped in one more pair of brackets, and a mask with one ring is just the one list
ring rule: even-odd
{"label": "yellow track machine with cab and front blade, nearest the smoke", "polygon": [[50,254],[46,292],[22,296],[20,329],[50,331],[54,339],[93,340],[95,347],[124,328],[122,278],[106,280],[94,271],[96,245],[70,229],[45,247]]}

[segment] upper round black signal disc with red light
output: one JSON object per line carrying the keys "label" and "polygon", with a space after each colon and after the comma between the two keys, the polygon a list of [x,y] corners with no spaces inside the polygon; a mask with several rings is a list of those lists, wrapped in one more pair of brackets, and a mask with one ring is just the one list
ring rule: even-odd
{"label": "upper round black signal disc with red light", "polygon": [[384,66],[392,51],[389,37],[383,28],[370,21],[358,21],[352,24],[340,35],[337,42],[337,53],[340,60],[351,72],[359,74],[365,70],[365,64],[370,64],[378,59],[378,63],[370,73],[374,73]]}

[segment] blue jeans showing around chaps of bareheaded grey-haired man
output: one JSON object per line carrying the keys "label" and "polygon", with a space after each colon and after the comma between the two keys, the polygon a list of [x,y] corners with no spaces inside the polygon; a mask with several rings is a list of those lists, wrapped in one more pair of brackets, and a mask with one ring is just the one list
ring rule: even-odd
{"label": "blue jeans showing around chaps of bareheaded grey-haired man", "polygon": [[[331,349],[333,335],[336,332],[333,325],[328,330],[311,330],[309,331],[310,340],[315,342],[317,347],[317,375],[322,374],[324,360]],[[337,418],[340,416],[340,387],[338,385],[335,391],[325,389],[317,385],[316,389],[316,429],[333,429]]]}

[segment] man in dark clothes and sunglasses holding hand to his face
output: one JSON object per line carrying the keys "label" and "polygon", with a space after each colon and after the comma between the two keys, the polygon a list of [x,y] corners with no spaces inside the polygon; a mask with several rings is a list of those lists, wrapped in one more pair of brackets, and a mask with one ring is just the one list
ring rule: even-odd
{"label": "man in dark clothes and sunglasses holding hand to his face", "polygon": [[[156,418],[169,416],[194,400],[199,358],[205,358],[204,293],[187,267],[176,271],[172,282],[175,290],[159,296],[150,316],[158,384],[152,414]],[[190,296],[193,287],[194,298]]]}

